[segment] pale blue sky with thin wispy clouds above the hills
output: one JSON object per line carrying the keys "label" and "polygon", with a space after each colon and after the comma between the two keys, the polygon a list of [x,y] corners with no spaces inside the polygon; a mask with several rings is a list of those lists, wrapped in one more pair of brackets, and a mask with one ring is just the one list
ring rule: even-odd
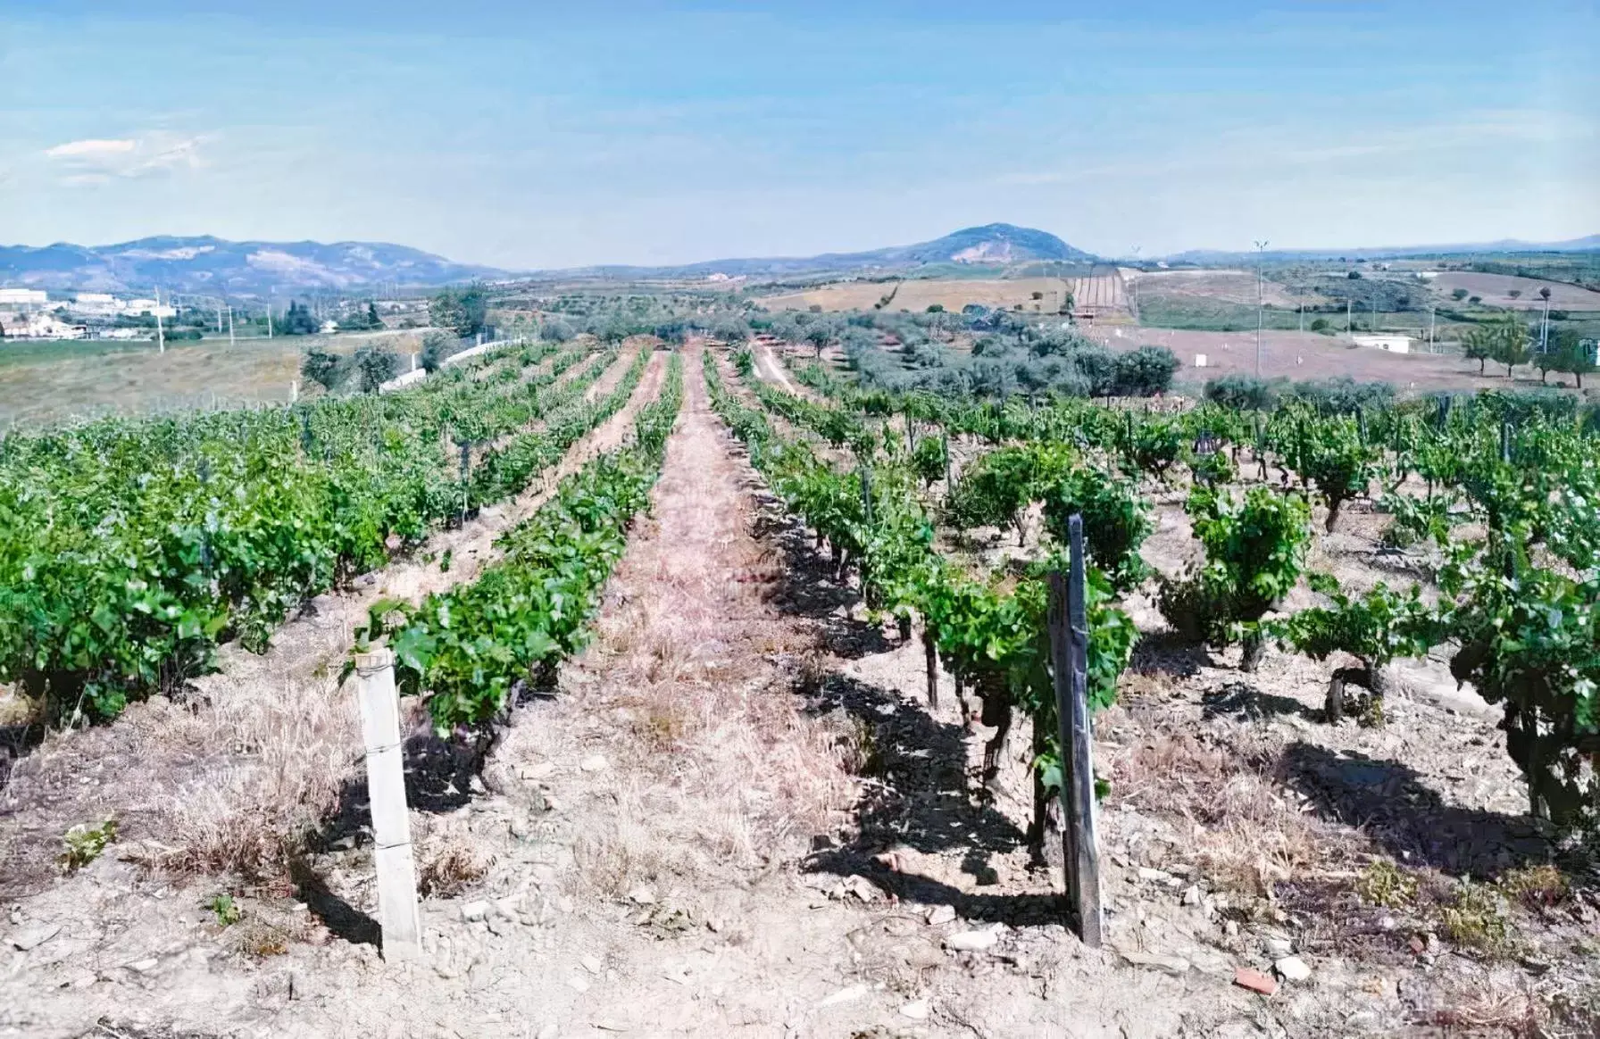
{"label": "pale blue sky with thin wispy clouds above the hills", "polygon": [[0,0],[0,245],[530,270],[994,221],[1146,257],[1600,233],[1600,5]]}

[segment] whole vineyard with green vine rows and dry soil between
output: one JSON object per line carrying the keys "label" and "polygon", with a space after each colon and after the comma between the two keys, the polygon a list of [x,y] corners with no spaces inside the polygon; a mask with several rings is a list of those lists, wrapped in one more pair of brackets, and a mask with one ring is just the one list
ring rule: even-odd
{"label": "whole vineyard with green vine rows and dry soil between", "polygon": [[[1125,1034],[1254,1034],[1256,1013],[1274,1034],[1400,1034],[1475,1026],[1451,1007],[1528,972],[1549,991],[1517,1005],[1541,1026],[1587,1020],[1592,411],[1496,393],[974,400],[810,358],[518,342],[386,395],[8,435],[0,684],[48,732],[0,802],[16,934],[86,882],[226,890],[253,927],[230,970],[275,993],[262,978],[290,962],[333,1018],[245,986],[216,1012],[267,999],[326,1034],[376,1026],[413,986],[472,991],[482,1034],[1045,1036],[1062,1001],[1091,999],[1094,1028]],[[1059,900],[1051,583],[1077,523],[1106,951],[1075,945]],[[467,529],[472,558],[453,556]],[[326,652],[275,655],[307,627]],[[378,647],[406,711],[434,967],[382,980],[334,922],[371,924],[374,894],[360,743],[330,707]],[[261,689],[240,708],[219,679]],[[1294,695],[1266,692],[1283,681]],[[1419,681],[1482,711],[1430,715]],[[278,746],[237,721],[274,697],[315,703],[323,729]],[[195,735],[216,732],[208,711],[232,711],[227,746]],[[1472,740],[1448,753],[1498,815],[1421,783],[1333,786],[1440,732]],[[182,790],[232,799],[205,839],[117,799],[130,738],[181,743]],[[312,761],[328,782],[285,785]],[[107,764],[107,786],[88,783]],[[42,866],[54,849],[29,798],[82,825],[69,850],[98,847]],[[96,812],[126,818],[85,830]],[[219,838],[221,818],[253,839]],[[1520,836],[1480,854],[1491,818]],[[154,902],[133,911],[181,945]],[[208,914],[218,941],[246,930]],[[51,938],[82,956],[106,940]],[[1298,988],[1299,956],[1326,981]],[[186,999],[218,967],[155,949],[134,970],[173,978],[163,1025],[205,1020]],[[70,993],[77,962],[19,957],[42,1009],[0,1025],[93,1023],[37,994]],[[1373,996],[1368,975],[1390,980]]]}

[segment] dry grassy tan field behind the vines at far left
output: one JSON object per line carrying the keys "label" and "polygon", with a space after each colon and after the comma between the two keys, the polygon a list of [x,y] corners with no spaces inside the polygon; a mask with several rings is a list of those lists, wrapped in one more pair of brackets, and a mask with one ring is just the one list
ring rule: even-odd
{"label": "dry grassy tan field behind the vines at far left", "polygon": [[[402,355],[421,342],[421,332],[379,336],[280,336],[106,350],[93,342],[51,344],[27,360],[0,363],[0,425],[62,422],[102,414],[147,414],[178,408],[285,403],[299,379],[301,356],[310,347],[350,353],[384,339]],[[32,345],[32,344],[29,344]],[[8,347],[0,347],[0,352]],[[0,356],[3,360],[3,356]],[[304,392],[306,387],[301,387]]]}

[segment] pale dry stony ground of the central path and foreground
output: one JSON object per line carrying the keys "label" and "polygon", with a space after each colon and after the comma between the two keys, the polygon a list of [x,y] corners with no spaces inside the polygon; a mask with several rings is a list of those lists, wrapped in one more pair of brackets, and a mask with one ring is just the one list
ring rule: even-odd
{"label": "pale dry stony ground of the central path and foreground", "polygon": [[[947,679],[926,705],[920,644],[829,580],[685,360],[595,644],[482,777],[414,742],[419,962],[378,953],[352,737],[341,810],[282,871],[162,870],[157,833],[8,884],[0,1034],[1594,1034],[1550,1007],[1592,999],[1595,878],[1536,870],[1550,846],[1491,711],[1424,662],[1386,726],[1331,727],[1331,665],[1270,652],[1246,676],[1141,603],[1096,729],[1107,946],[1083,948],[1024,847],[1026,726],[976,796],[986,730]],[[1160,515],[1149,551],[1173,566],[1187,529]],[[1392,571],[1378,523],[1354,510],[1325,542],[1341,575]],[[133,758],[166,727],[67,740],[122,740],[74,759],[80,822],[141,802]],[[1462,878],[1491,898],[1464,902]]]}

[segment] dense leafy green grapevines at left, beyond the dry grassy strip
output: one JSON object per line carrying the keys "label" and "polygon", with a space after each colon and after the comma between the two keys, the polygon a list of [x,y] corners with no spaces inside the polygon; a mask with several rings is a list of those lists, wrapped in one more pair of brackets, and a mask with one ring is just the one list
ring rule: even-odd
{"label": "dense leafy green grapevines at left, beyond the dry grassy strip", "polygon": [[541,464],[595,420],[571,396],[600,361],[576,382],[523,377],[552,352],[506,350],[386,396],[8,436],[0,681],[58,716],[109,718],[213,667],[222,641],[262,649],[302,601],[459,516],[470,494],[450,432],[469,417]]}

